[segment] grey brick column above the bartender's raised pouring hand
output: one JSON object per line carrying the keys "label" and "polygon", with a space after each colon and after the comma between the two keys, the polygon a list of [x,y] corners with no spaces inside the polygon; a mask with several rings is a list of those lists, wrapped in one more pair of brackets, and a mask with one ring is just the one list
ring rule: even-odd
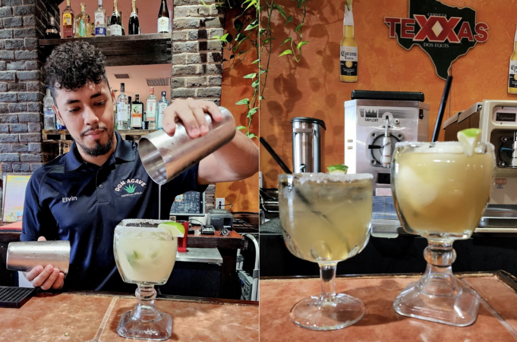
{"label": "grey brick column above the bartender's raised pouring hand", "polygon": [[[215,1],[206,1],[215,3]],[[199,0],[174,0],[171,98],[221,100],[221,8],[200,5]]]}

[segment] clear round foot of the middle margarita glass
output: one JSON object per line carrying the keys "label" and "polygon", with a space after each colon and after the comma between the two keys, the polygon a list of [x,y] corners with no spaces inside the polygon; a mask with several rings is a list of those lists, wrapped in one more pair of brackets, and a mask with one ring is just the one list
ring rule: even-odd
{"label": "clear round foot of the middle margarita glass", "polygon": [[311,330],[338,330],[352,325],[364,316],[364,304],[344,293],[322,300],[311,296],[296,303],[291,309],[291,320]]}

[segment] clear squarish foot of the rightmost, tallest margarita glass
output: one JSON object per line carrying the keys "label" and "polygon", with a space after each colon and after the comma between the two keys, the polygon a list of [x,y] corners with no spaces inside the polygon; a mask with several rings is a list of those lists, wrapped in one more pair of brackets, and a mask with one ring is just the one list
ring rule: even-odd
{"label": "clear squarish foot of the rightmost, tallest margarita glass", "polygon": [[475,291],[459,281],[455,282],[454,293],[440,294],[436,288],[428,287],[421,281],[412,282],[397,296],[393,309],[403,316],[455,326],[476,321],[479,298]]}

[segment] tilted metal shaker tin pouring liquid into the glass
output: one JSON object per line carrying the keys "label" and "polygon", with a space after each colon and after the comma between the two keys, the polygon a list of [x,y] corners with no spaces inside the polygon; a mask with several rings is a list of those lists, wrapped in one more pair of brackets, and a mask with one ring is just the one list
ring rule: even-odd
{"label": "tilted metal shaker tin pouring liquid into the glass", "polygon": [[219,109],[223,115],[220,122],[212,121],[211,116],[205,114],[208,123],[205,136],[190,138],[185,127],[177,123],[172,137],[158,130],[140,138],[140,159],[154,182],[163,185],[171,181],[233,139],[236,132],[233,115],[224,107]]}

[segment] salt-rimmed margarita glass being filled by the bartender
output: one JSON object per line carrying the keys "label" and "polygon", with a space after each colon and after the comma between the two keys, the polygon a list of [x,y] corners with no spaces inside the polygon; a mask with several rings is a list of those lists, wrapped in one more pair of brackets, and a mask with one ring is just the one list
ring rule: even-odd
{"label": "salt-rimmed margarita glass being filled by the bartender", "polygon": [[113,250],[118,272],[125,282],[137,284],[138,305],[118,323],[118,335],[126,338],[162,341],[171,337],[172,319],[155,305],[155,285],[169,279],[178,238],[168,229],[158,228],[161,220],[127,219],[115,228]]}

